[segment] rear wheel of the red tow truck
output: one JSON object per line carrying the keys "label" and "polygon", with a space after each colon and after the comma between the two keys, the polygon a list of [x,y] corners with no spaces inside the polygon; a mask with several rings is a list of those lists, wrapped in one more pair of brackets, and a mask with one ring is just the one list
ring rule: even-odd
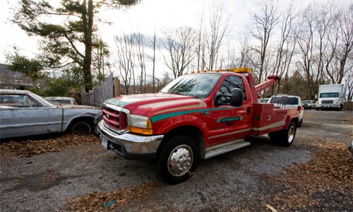
{"label": "rear wheel of the red tow truck", "polygon": [[288,126],[288,129],[282,129],[280,131],[275,131],[273,133],[268,134],[270,140],[280,146],[291,146],[295,134],[297,132],[297,124],[295,122],[291,122]]}

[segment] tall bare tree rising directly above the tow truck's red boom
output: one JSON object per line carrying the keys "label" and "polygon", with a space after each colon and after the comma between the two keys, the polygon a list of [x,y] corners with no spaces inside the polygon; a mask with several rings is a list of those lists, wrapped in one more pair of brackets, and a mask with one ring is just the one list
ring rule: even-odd
{"label": "tall bare tree rising directly above the tow truck's red boom", "polygon": [[268,43],[273,30],[278,23],[279,16],[277,14],[277,4],[274,0],[264,0],[261,4],[261,10],[254,14],[255,25],[251,30],[251,35],[261,43],[260,49],[256,49],[260,55],[260,67],[258,79],[263,78],[265,60],[267,57]]}

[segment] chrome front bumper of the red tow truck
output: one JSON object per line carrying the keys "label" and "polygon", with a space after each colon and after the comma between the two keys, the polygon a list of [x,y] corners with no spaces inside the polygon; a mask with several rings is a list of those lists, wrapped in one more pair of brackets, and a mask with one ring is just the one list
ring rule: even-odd
{"label": "chrome front bumper of the red tow truck", "polygon": [[117,134],[104,124],[104,120],[98,123],[98,131],[102,138],[102,146],[106,149],[112,149],[126,159],[155,158],[164,137],[163,135]]}

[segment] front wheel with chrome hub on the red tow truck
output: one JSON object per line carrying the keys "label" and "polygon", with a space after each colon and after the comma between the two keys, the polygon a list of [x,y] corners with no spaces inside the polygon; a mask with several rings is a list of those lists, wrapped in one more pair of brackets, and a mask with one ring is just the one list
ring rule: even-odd
{"label": "front wheel with chrome hub on the red tow truck", "polygon": [[189,136],[175,136],[158,155],[157,171],[169,184],[178,184],[191,177],[196,169],[198,153],[196,143]]}

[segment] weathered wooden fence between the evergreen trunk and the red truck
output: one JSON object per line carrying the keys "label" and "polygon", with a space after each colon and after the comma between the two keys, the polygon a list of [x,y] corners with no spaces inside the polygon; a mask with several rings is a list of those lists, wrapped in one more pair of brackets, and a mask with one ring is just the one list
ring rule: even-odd
{"label": "weathered wooden fence between the evergreen trunk and the red truck", "polygon": [[83,93],[81,102],[83,105],[102,107],[104,100],[120,95],[119,85],[119,78],[108,76],[100,86],[96,86],[88,93]]}

